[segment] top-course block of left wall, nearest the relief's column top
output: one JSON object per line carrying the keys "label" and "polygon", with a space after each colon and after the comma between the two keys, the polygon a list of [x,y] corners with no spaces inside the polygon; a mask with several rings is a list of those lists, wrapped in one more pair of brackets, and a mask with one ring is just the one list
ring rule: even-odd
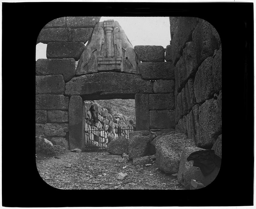
{"label": "top-course block of left wall, nearest the relief's column top", "polygon": [[69,28],[94,28],[101,17],[67,17],[66,25]]}

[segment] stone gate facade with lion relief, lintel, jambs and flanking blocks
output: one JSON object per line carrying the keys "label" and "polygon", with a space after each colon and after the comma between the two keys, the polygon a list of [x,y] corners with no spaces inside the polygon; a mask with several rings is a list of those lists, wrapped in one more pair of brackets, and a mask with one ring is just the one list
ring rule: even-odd
{"label": "stone gate facade with lion relief, lintel, jambs and flanking blocks", "polygon": [[134,49],[118,22],[99,20],[57,18],[41,30],[36,135],[84,151],[84,100],[113,98],[135,98],[136,130],[174,130],[174,67],[164,47]]}

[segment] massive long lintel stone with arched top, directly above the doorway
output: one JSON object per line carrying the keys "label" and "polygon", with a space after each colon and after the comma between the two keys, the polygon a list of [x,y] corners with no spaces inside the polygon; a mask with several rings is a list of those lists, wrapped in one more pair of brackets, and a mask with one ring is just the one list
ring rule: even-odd
{"label": "massive long lintel stone with arched top, directly above the doorway", "polygon": [[[99,85],[100,83],[100,85]],[[72,78],[66,83],[67,95],[134,95],[153,93],[150,81],[131,73],[100,72]]]}

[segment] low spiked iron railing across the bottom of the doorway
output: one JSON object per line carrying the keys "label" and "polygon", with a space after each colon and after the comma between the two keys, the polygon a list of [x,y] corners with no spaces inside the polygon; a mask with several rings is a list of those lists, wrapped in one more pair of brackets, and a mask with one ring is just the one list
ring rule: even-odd
{"label": "low spiked iron railing across the bottom of the doorway", "polygon": [[[108,143],[118,136],[124,136],[129,139],[129,133],[135,131],[134,128],[117,128],[115,134],[107,134],[104,129],[85,130],[85,152],[105,152]],[[114,135],[114,137],[113,137]]]}

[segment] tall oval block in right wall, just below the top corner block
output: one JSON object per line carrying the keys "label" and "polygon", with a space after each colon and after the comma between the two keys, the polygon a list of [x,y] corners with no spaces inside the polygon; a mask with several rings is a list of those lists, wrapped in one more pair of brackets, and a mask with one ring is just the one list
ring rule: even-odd
{"label": "tall oval block in right wall, just below the top corner block", "polygon": [[212,82],[212,60],[213,57],[208,57],[199,66],[194,82],[194,92],[196,102],[203,103],[206,99],[210,99],[214,94]]}

